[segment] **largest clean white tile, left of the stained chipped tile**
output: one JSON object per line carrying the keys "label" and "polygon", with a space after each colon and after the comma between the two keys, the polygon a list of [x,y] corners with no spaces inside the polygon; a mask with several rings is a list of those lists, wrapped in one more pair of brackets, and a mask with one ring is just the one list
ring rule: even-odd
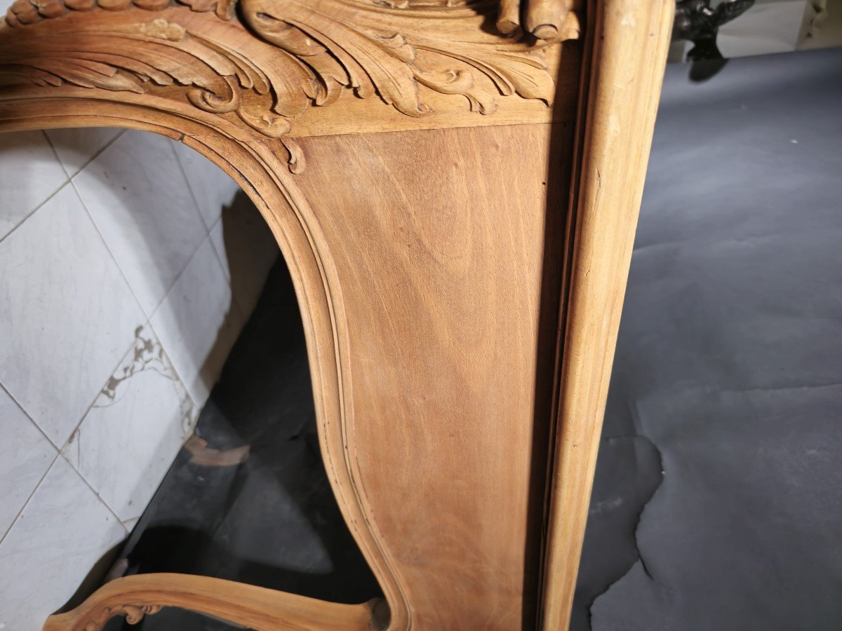
{"label": "largest clean white tile, left of the stained chipped tile", "polygon": [[144,321],[72,186],[0,242],[0,383],[57,445]]}

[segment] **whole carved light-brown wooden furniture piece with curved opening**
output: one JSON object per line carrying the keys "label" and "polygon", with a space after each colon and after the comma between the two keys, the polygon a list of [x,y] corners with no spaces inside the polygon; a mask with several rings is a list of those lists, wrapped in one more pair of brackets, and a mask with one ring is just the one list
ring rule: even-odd
{"label": "whole carved light-brown wooden furniture piece with curved opening", "polygon": [[45,628],[165,606],[259,629],[566,628],[672,0],[452,4],[9,10],[0,130],[168,135],[264,214],[328,477],[385,595],[140,575]]}

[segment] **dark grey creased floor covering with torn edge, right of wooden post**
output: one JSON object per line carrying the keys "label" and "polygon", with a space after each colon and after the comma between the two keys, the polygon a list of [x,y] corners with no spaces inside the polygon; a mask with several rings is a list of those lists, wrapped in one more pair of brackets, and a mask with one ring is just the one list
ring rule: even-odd
{"label": "dark grey creased floor covering with torn edge, right of wooden post", "polygon": [[573,629],[842,629],[842,50],[670,66]]}

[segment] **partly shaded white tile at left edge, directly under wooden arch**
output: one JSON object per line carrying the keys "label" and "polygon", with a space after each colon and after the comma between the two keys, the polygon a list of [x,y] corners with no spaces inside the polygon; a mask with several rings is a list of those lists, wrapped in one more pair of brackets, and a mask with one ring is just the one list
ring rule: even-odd
{"label": "partly shaded white tile at left edge, directly under wooden arch", "polygon": [[61,162],[42,132],[0,134],[0,239],[65,180]]}

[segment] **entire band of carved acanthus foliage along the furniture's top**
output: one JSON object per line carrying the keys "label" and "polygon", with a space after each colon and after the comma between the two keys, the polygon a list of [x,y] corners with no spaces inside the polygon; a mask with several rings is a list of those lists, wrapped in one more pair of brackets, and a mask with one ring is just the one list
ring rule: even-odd
{"label": "entire band of carved acanthus foliage along the furniture's top", "polygon": [[[425,92],[461,95],[478,115],[500,96],[552,103],[553,44],[498,34],[493,0],[235,3],[16,0],[0,24],[0,99],[27,86],[44,98],[55,87],[66,87],[62,97],[163,98],[179,114],[192,108],[280,139],[293,172],[303,167],[294,121],[345,93],[410,117],[434,112]],[[578,29],[571,12],[561,39]]]}

